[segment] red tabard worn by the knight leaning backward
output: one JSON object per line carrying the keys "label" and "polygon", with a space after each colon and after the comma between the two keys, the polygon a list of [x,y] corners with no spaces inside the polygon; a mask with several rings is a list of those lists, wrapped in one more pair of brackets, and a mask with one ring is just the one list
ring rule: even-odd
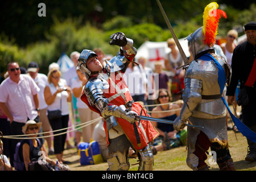
{"label": "red tabard worn by the knight leaning backward", "polygon": [[[115,74],[112,74],[110,78],[108,79],[109,82],[109,89],[104,90],[105,97],[108,98],[109,104],[113,105],[125,105],[127,101],[133,100],[131,97],[131,94],[129,92],[129,89],[127,88],[125,80],[123,80],[121,72],[115,72]],[[85,102],[88,107],[97,112],[101,115],[100,110],[97,109],[97,107],[93,107],[89,104],[89,101],[87,100],[87,97],[84,93],[82,93],[81,100]],[[137,114],[146,115],[147,110],[144,109],[139,102],[134,102],[131,106],[131,109],[135,111]],[[131,144],[133,144],[133,147],[136,150],[141,150],[142,148],[146,147],[148,143],[150,143],[152,140],[154,140],[156,137],[158,137],[159,133],[156,131],[155,127],[152,125],[151,121],[144,121],[141,120],[140,127],[138,127],[138,122],[136,122],[137,129],[139,132],[139,138],[141,140],[141,144],[137,144],[137,139],[135,137],[134,133],[134,127],[122,118],[116,118],[119,125],[122,127],[123,132],[126,134],[126,137],[130,140]],[[104,121],[104,128],[106,133],[106,139],[108,141],[108,130],[106,129],[106,121]]]}

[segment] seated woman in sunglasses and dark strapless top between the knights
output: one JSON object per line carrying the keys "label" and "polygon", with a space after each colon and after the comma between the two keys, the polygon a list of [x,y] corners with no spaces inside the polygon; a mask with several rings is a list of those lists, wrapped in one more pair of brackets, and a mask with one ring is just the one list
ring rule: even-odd
{"label": "seated woman in sunglasses and dark strapless top between the knights", "polygon": [[[171,102],[171,94],[166,89],[159,89],[158,94],[159,95],[156,100],[158,104],[166,105],[156,106],[152,110],[151,117],[174,121],[174,119],[180,114],[181,106],[173,103],[167,104],[168,102]],[[183,144],[184,133],[186,134],[187,131],[182,130],[178,133],[174,129],[173,125],[167,123],[153,122],[153,125],[160,134],[154,142],[154,147],[152,147],[153,154],[156,154],[157,151],[169,150],[170,148],[178,147]]]}

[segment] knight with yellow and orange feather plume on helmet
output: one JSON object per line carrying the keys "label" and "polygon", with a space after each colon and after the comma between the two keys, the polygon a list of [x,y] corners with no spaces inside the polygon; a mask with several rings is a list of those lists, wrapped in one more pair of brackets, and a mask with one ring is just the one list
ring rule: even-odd
{"label": "knight with yellow and orange feather plume on helmet", "polygon": [[235,170],[228,147],[226,106],[221,98],[231,69],[213,48],[221,16],[226,18],[226,13],[218,9],[216,2],[210,3],[204,10],[203,27],[187,37],[193,61],[187,65],[184,104],[174,127],[180,130],[187,121],[203,126],[187,129],[187,165],[193,170],[209,170],[205,162],[209,148],[221,170]]}

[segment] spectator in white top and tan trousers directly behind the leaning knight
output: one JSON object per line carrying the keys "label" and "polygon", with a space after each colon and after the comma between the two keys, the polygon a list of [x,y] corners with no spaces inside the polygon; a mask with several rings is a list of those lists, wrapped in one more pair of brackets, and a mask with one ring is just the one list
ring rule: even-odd
{"label": "spectator in white top and tan trousers directly behind the leaning knight", "polygon": [[[82,90],[87,80],[85,75],[78,69],[78,67],[76,68],[76,72],[77,72],[77,77],[73,78],[71,87],[72,87],[73,95],[77,98],[76,106],[79,111],[80,121],[81,123],[85,123],[98,118],[98,114],[90,110],[89,107],[83,101],[81,101],[80,97],[82,95]],[[82,127],[81,131],[78,130],[76,132],[76,142],[77,143],[80,142],[80,138],[82,135],[82,140],[84,142],[89,143],[90,139],[93,137],[93,130],[94,130],[94,127],[97,125],[97,123],[98,122],[94,122],[89,126]]]}

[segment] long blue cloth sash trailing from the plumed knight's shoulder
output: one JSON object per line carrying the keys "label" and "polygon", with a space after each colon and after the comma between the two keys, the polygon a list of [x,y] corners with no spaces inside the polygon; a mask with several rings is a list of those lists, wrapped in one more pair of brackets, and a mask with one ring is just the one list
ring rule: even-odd
{"label": "long blue cloth sash trailing from the plumed knight's shoulder", "polygon": [[[210,55],[210,53],[207,53],[207,54],[201,56],[199,59],[205,60],[205,61],[213,60],[214,63],[216,64],[216,66],[218,68],[218,84],[220,85],[220,90],[221,90],[221,94],[222,94],[222,92],[224,90],[225,83],[226,83],[226,75],[225,75],[224,69],[221,67],[220,63],[218,63],[218,61],[216,59],[214,59],[214,57],[212,55]],[[249,139],[253,142],[256,142],[256,133],[251,131],[249,129],[249,127],[247,127],[245,124],[243,124],[240,121],[240,119],[238,119],[237,117],[234,116],[234,114],[230,110],[228,104],[226,103],[226,100],[224,97],[221,97],[221,99],[224,102],[226,108],[228,109],[230,117],[232,118],[232,121],[234,122],[234,125],[237,126],[237,129],[240,131],[240,133],[243,134],[247,139]]]}

